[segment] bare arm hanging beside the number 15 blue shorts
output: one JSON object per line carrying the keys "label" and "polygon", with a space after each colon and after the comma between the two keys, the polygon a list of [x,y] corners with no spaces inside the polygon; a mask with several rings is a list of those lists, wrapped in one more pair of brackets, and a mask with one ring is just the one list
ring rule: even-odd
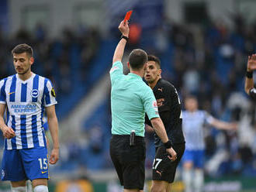
{"label": "bare arm hanging beside the number 15 blue shorts", "polygon": [[50,163],[55,164],[59,159],[59,138],[58,138],[58,122],[55,113],[55,105],[46,108],[47,122],[50,130],[50,136],[54,143],[54,149],[50,154]]}

